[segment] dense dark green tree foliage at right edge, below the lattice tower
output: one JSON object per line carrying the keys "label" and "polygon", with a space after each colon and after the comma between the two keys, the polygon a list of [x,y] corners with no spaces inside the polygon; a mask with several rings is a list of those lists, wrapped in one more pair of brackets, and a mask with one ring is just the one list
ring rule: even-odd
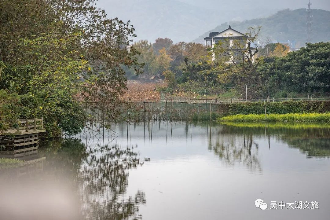
{"label": "dense dark green tree foliage at right edge, below the lattice tower", "polygon": [[258,71],[269,81],[274,94],[288,92],[330,92],[330,42],[307,43],[286,56],[261,58]]}

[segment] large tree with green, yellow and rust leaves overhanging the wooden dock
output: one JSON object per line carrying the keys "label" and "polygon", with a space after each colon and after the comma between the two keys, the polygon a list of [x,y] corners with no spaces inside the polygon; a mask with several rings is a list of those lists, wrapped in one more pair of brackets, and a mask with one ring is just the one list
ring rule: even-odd
{"label": "large tree with green, yellow and rust leaves overhanging the wooden dock", "polygon": [[[106,18],[94,0],[3,0],[0,29],[0,88],[19,96],[17,117],[43,116],[49,137],[119,117],[123,67],[141,67],[138,52],[126,49],[135,37],[129,22]],[[71,131],[68,121],[77,122]]]}

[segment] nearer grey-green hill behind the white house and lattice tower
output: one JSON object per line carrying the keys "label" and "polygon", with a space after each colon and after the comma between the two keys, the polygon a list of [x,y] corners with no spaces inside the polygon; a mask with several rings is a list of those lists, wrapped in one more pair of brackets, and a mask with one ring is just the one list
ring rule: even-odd
{"label": "nearer grey-green hill behind the white house and lattice tower", "polygon": [[[311,41],[330,41],[330,12],[313,9],[313,25]],[[269,37],[277,41],[295,41],[296,47],[304,46],[307,38],[306,34],[306,9],[282,10],[266,18],[255,18],[245,21],[225,22],[209,31],[222,31],[228,26],[242,33],[246,32],[247,27],[262,26],[261,41]],[[209,32],[200,35],[195,42],[202,43],[203,38],[209,36]]]}

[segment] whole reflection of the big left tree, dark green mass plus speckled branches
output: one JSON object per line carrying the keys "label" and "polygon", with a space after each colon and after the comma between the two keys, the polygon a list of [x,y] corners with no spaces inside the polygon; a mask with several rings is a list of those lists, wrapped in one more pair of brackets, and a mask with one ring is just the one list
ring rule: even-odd
{"label": "whole reflection of the big left tree, dark green mass plus speckled branches", "polygon": [[73,139],[50,142],[43,151],[48,172],[66,176],[78,188],[84,219],[142,219],[138,211],[139,204],[146,204],[145,194],[139,191],[124,198],[128,170],[139,165],[133,147],[115,144],[86,149]]}

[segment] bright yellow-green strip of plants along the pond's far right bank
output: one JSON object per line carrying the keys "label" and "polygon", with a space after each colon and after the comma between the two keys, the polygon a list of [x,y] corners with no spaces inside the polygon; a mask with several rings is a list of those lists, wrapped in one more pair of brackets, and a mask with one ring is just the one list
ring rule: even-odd
{"label": "bright yellow-green strip of plants along the pond's far right bank", "polygon": [[330,113],[287,113],[287,114],[236,114],[217,119],[218,121],[272,121],[272,122],[330,122]]}

